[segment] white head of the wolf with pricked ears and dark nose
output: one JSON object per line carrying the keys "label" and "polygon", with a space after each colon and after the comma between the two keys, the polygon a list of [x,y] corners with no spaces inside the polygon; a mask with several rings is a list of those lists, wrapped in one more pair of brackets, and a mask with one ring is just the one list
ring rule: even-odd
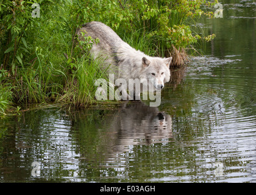
{"label": "white head of the wolf with pricked ears and dark nose", "polygon": [[157,90],[162,90],[166,82],[170,80],[170,63],[172,57],[162,59],[160,57],[143,57],[142,65],[143,72],[146,74],[147,80],[149,82],[154,82],[154,88]]}

